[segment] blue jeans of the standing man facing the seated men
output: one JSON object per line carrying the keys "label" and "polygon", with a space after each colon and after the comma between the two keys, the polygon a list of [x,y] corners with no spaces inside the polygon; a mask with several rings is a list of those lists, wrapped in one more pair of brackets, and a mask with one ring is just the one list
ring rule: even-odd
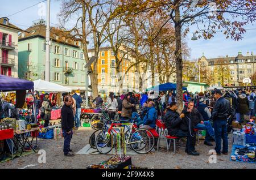
{"label": "blue jeans of the standing man facing the seated men", "polygon": [[228,153],[228,127],[225,120],[216,120],[213,122],[217,153],[221,152],[221,139],[223,140],[223,153]]}

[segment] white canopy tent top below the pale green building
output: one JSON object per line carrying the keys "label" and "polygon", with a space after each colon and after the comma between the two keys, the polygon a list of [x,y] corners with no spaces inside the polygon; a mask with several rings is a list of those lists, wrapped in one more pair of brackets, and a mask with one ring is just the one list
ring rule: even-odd
{"label": "white canopy tent top below the pale green building", "polygon": [[35,91],[47,91],[47,92],[71,92],[72,89],[64,87],[59,84],[47,82],[45,80],[35,80],[34,81],[34,90]]}

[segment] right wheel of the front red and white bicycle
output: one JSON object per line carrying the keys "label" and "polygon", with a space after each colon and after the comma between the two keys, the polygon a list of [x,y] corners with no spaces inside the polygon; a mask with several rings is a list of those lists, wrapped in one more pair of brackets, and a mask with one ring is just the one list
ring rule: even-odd
{"label": "right wheel of the front red and white bicycle", "polygon": [[130,136],[131,148],[139,154],[146,154],[154,148],[155,138],[152,132],[140,128]]}

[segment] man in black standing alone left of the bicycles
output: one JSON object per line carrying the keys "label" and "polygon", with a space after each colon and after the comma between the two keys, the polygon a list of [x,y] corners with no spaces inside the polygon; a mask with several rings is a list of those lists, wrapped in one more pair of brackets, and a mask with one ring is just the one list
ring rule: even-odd
{"label": "man in black standing alone left of the bicycles", "polygon": [[74,127],[74,114],[72,110],[73,98],[72,96],[66,96],[64,98],[64,106],[61,109],[61,127],[64,135],[64,147],[63,152],[64,156],[72,157],[75,156],[70,153],[70,142],[72,139],[72,129]]}

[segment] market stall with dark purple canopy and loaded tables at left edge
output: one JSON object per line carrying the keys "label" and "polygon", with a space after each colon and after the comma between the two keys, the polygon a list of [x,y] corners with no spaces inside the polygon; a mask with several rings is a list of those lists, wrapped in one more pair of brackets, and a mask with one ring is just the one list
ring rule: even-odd
{"label": "market stall with dark purple canopy and loaded tables at left edge", "polygon": [[[27,92],[27,90],[29,91]],[[34,91],[33,82],[0,75],[0,91],[1,92],[15,91],[16,92],[15,109],[22,108],[26,99],[26,102],[28,100],[31,102],[30,108],[32,109],[32,111],[35,112],[35,101],[32,93]],[[35,119],[34,124],[27,123],[26,120],[22,118],[24,118],[23,111],[21,114],[19,114],[19,116],[16,117],[16,119],[6,117],[1,119],[1,123],[0,123],[0,127],[1,127],[0,139],[3,140],[3,143],[1,143],[1,145],[4,144],[5,147],[9,147],[10,152],[12,154],[14,153],[14,151],[21,151],[20,156],[27,148],[26,145],[28,145],[28,147],[30,147],[31,150],[35,152],[35,148],[32,147],[32,142],[34,138],[32,138],[32,140],[29,140],[29,138],[31,137],[31,132],[38,131],[38,125],[36,125],[37,119],[36,119],[35,113],[34,113],[34,119]],[[36,135],[34,137],[37,138]],[[11,147],[10,147],[10,144],[11,144]],[[14,144],[14,148],[13,148],[13,144]],[[1,150],[3,150],[3,148]],[[3,152],[6,153],[6,148]]]}

